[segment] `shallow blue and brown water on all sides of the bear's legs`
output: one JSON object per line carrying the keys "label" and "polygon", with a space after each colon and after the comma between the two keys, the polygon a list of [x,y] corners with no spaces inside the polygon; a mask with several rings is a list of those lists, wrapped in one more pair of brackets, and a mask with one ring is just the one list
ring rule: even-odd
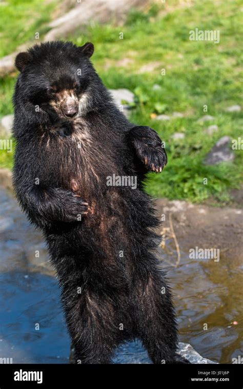
{"label": "shallow blue and brown water on all sides of the bear's legs", "polygon": [[[5,190],[0,191],[0,234],[0,357],[13,363],[68,363],[70,340],[45,244]],[[182,253],[174,268],[167,262],[175,255],[159,254],[173,287],[180,340],[215,362],[242,356],[242,263],[229,257],[220,258],[220,265],[204,263]],[[150,360],[135,341],[121,346],[114,362]]]}

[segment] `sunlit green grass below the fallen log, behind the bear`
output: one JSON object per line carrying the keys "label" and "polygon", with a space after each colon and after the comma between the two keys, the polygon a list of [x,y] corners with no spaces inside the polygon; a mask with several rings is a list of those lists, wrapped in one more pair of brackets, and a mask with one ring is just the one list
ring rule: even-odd
{"label": "sunlit green grass below the fallen log, behind the bear", "polygon": [[[167,15],[163,7],[154,5],[146,13],[133,10],[124,26],[96,24],[70,39],[78,45],[86,40],[94,43],[93,63],[105,85],[135,91],[137,103],[131,109],[131,120],[153,127],[166,142],[168,165],[162,174],[150,174],[148,191],[170,199],[225,203],[230,189],[242,182],[242,151],[234,151],[231,163],[210,167],[202,162],[221,136],[243,136],[242,112],[225,112],[226,107],[242,101],[240,1],[195,1],[192,7],[175,7]],[[189,31],[195,28],[219,30],[220,43],[190,41]],[[120,32],[123,39],[119,39]],[[151,63],[153,67],[141,73],[140,69]],[[166,69],[166,75],[161,75],[161,69]],[[14,78],[6,77],[2,84],[2,114],[7,114],[12,112]],[[154,84],[161,89],[154,91]],[[153,113],[171,115],[175,111],[185,117],[166,122],[151,118]],[[198,123],[204,114],[214,120]],[[211,124],[219,129],[209,136],[205,129]],[[185,138],[173,140],[174,132],[183,132]],[[0,157],[1,162],[11,166],[9,159]]]}

